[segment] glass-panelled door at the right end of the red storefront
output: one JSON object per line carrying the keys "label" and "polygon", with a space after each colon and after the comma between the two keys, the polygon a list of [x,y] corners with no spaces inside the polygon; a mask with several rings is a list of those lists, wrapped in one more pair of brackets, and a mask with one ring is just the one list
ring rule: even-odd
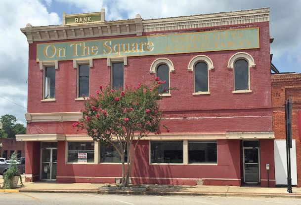
{"label": "glass-panelled door at the right end of the red storefront", "polygon": [[259,141],[243,141],[244,182],[260,182],[259,174]]}

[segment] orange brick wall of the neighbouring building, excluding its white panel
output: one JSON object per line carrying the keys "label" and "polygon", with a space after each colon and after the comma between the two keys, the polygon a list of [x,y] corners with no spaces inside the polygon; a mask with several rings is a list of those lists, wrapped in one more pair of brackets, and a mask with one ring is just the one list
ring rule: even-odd
{"label": "orange brick wall of the neighbouring building, excluding its white panel", "polygon": [[301,73],[273,74],[272,82],[272,107],[273,130],[276,139],[285,139],[285,111],[284,102],[292,98],[292,134],[296,139],[297,177],[301,186]]}

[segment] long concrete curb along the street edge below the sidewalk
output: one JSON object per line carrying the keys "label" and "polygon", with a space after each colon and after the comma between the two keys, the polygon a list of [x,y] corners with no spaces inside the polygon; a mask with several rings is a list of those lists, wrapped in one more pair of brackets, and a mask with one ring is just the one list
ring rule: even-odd
{"label": "long concrete curb along the street edge below the sidewalk", "polygon": [[[1,192],[1,190],[0,190]],[[3,191],[2,191],[3,192]],[[263,197],[263,198],[295,198],[301,199],[301,194],[276,194],[276,193],[224,193],[224,192],[157,192],[157,191],[100,191],[100,190],[39,190],[39,189],[20,189],[4,190],[4,192],[32,192],[32,193],[74,193],[74,194],[123,194],[123,195],[157,195],[157,196],[212,196],[212,197]]]}

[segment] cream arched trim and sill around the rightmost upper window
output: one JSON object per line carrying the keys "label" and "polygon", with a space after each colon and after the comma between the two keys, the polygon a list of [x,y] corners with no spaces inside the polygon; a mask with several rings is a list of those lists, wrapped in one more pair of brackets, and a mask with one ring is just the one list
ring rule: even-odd
{"label": "cream arched trim and sill around the rightmost upper window", "polygon": [[[249,79],[248,79],[248,89],[247,90],[235,90],[235,69],[234,69],[234,64],[237,60],[245,60],[248,63],[248,72],[249,72]],[[250,77],[250,68],[255,67],[255,61],[254,58],[249,54],[249,53],[244,53],[244,52],[238,52],[235,53],[231,58],[229,59],[228,62],[228,68],[233,69],[233,91],[232,93],[252,93],[251,90],[251,77]]]}

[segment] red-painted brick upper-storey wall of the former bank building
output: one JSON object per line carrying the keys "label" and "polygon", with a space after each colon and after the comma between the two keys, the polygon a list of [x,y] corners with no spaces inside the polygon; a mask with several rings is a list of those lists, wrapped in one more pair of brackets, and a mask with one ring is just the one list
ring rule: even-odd
{"label": "red-painted brick upper-storey wall of the former bank building", "polygon": [[[147,85],[151,84],[154,80],[154,74],[149,72],[152,62],[157,58],[168,58],[172,61],[175,69],[174,72],[170,73],[170,85],[178,88],[178,90],[171,91],[172,96],[164,97],[160,102],[160,107],[166,112],[167,117],[169,115],[182,117],[233,117],[207,120],[167,120],[167,124],[172,127],[173,132],[271,131],[269,23],[205,28],[202,31],[249,27],[259,27],[259,49],[128,57],[128,65],[125,66],[124,72],[125,84],[137,85],[140,82]],[[194,30],[193,32],[197,31],[200,30]],[[41,102],[43,70],[40,70],[39,63],[36,62],[36,46],[36,42],[29,44],[28,112],[80,111],[83,108],[83,102],[75,101],[77,69],[73,68],[72,61],[60,61],[59,68],[55,71],[56,101]],[[256,67],[250,68],[252,93],[232,93],[233,69],[228,69],[227,64],[230,57],[236,52],[247,52],[255,60]],[[187,68],[189,61],[200,54],[211,58],[215,67],[209,71],[209,89],[211,94],[193,96],[193,72],[188,71]],[[94,59],[93,68],[90,69],[90,95],[96,94],[99,85],[106,86],[109,83],[110,67],[107,66],[106,59]],[[65,127],[69,126],[67,122],[30,123],[27,126],[27,134],[39,133],[35,125],[42,127],[43,131],[46,130],[45,133],[74,132],[71,128]]]}

